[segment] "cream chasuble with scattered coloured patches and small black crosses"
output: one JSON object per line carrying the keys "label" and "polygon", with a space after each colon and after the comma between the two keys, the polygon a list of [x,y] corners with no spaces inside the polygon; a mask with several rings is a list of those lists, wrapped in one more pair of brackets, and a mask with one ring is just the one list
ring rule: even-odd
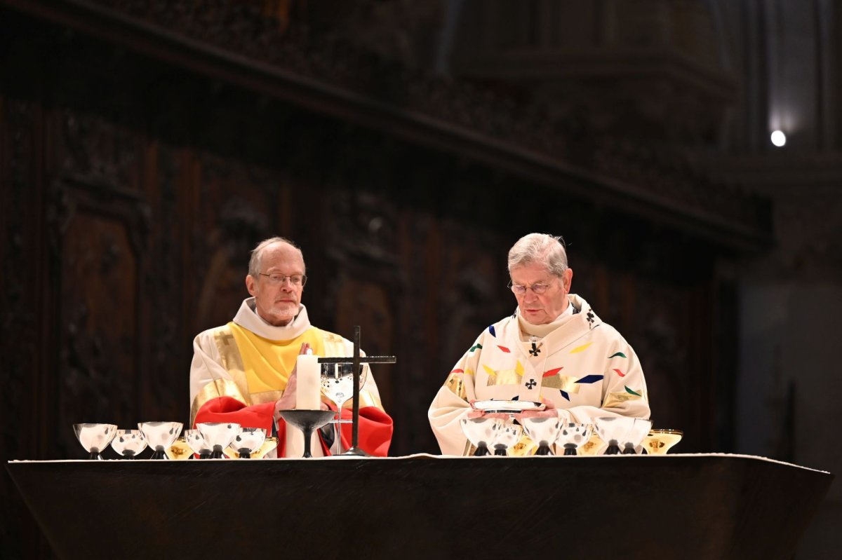
{"label": "cream chasuble with scattered coloured patches and small black crosses", "polygon": [[543,337],[523,332],[518,314],[483,330],[452,368],[429,408],[441,452],[461,455],[460,420],[472,400],[552,402],[565,421],[649,417],[646,381],[632,346],[569,294],[573,316]]}

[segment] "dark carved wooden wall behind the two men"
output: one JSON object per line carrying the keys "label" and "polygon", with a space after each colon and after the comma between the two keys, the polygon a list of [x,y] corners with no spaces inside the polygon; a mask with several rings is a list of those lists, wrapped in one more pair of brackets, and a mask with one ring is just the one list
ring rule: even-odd
{"label": "dark carved wooden wall behind the two men", "polygon": [[[530,231],[567,240],[573,292],[636,348],[655,425],[683,429],[683,452],[730,449],[727,271],[766,234],[733,212],[762,216],[762,201],[721,195],[746,242],[717,219],[700,227],[695,210],[720,197],[706,177],[617,159],[633,189],[616,196],[596,140],[575,127],[557,136],[592,172],[496,165],[457,135],[383,124],[353,100],[237,73],[236,60],[186,60],[173,35],[124,40],[119,25],[39,10],[0,8],[3,462],[82,458],[76,422],[186,421],[192,338],[232,319],[248,251],[271,235],[304,251],[315,325],[360,325],[365,351],[397,356],[376,369],[392,455],[437,452],[429,403],[514,309],[506,253]],[[356,64],[345,71],[381,70]],[[499,115],[483,110],[484,134]],[[679,183],[674,206],[634,190]],[[46,554],[6,473],[3,494],[3,519],[19,520],[0,528],[9,557]]]}

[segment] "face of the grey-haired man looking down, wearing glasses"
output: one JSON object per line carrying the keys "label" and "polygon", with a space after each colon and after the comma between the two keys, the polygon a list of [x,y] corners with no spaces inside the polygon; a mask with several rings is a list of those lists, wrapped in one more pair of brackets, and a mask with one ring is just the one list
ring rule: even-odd
{"label": "face of the grey-haired man looking down, wearing glasses", "polygon": [[[573,270],[568,268],[562,277],[547,272],[541,262],[533,262],[520,267],[514,267],[509,272],[513,284],[526,286],[526,293],[515,293],[518,300],[520,315],[532,325],[546,325],[552,323],[556,317],[567,309],[570,283],[573,281]],[[535,284],[548,286],[544,293],[535,293],[531,288]]]}

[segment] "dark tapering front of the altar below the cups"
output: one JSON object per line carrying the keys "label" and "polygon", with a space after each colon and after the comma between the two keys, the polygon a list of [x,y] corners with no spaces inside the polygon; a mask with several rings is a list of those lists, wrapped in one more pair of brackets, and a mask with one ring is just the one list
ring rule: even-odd
{"label": "dark tapering front of the altar below the cups", "polygon": [[65,558],[789,558],[833,479],[737,455],[11,462],[8,471]]}

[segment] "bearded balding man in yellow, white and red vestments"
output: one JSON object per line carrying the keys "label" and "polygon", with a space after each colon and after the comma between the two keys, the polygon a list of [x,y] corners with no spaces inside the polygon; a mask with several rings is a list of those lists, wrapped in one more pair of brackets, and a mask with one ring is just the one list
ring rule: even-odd
{"label": "bearded balding man in yellow, white and red vestments", "polygon": [[[310,324],[301,304],[306,269],[301,250],[289,240],[274,237],[252,251],[246,288],[252,295],[242,302],[227,325],[205,330],[193,341],[190,366],[190,425],[236,422],[242,426],[278,431],[278,456],[301,457],[303,438],[286,429],[279,410],[296,408],[296,359],[312,351],[320,357],[350,357],[354,345],[342,336]],[[367,365],[365,367],[368,367]],[[343,419],[351,418],[349,406]],[[336,405],[322,398],[322,409]],[[392,441],[392,418],[386,414],[374,376],[367,372],[360,391],[359,444],[371,455],[386,456]],[[301,439],[301,441],[297,441]],[[342,443],[348,448],[351,425],[343,424]],[[335,451],[314,431],[312,455]],[[296,451],[290,449],[295,446]]]}

